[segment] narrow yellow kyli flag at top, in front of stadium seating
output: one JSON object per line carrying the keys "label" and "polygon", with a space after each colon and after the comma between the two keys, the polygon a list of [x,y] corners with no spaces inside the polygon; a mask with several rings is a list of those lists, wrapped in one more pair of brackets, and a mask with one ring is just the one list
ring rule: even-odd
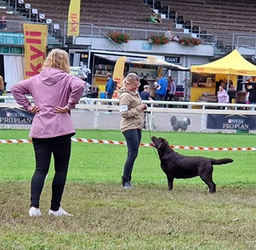
{"label": "narrow yellow kyli flag at top, in front of stadium seating", "polygon": [[67,24],[67,36],[79,36],[80,0],[71,0]]}

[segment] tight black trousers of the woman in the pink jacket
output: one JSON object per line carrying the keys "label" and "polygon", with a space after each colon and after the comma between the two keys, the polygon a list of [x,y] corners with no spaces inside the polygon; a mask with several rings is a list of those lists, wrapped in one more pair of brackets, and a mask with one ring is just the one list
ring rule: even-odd
{"label": "tight black trousers of the woman in the pink jacket", "polygon": [[59,210],[61,197],[67,178],[69,165],[71,134],[54,138],[32,138],[36,157],[36,171],[31,179],[31,206],[39,208],[39,199],[45,184],[45,176],[50,167],[53,153],[55,175],[52,183],[52,199],[50,209]]}

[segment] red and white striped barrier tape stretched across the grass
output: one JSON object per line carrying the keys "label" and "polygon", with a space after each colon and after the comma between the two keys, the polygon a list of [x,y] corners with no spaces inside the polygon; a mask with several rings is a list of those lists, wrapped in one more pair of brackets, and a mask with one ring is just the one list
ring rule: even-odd
{"label": "red and white striped barrier tape stretched across the grass", "polygon": [[[94,144],[113,144],[113,145],[126,145],[125,141],[108,141],[108,140],[97,140],[97,139],[86,139],[86,138],[72,138],[74,142],[87,142]],[[20,143],[31,143],[31,140],[27,139],[11,139],[11,140],[0,140],[0,144],[20,144]],[[141,143],[142,147],[152,147],[151,144]],[[191,147],[191,146],[174,146],[170,145],[172,149],[188,149],[188,150],[204,150],[204,151],[255,151],[256,147]]]}

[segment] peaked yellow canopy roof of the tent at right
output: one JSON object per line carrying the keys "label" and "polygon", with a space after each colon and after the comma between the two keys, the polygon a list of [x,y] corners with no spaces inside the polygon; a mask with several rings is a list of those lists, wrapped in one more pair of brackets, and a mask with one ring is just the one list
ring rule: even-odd
{"label": "peaked yellow canopy roof of the tent at right", "polygon": [[237,50],[212,63],[191,66],[191,72],[208,74],[234,74],[256,76],[256,66],[244,59]]}

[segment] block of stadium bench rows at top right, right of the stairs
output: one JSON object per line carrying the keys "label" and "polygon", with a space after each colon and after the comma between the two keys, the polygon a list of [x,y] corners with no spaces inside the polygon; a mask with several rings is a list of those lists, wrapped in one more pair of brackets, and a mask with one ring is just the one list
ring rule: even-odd
{"label": "block of stadium bench rows at top right, right of the stairs", "polygon": [[[256,1],[238,0],[161,0],[176,16],[192,21],[199,27],[195,33],[216,34],[224,44],[232,44],[234,33],[255,34]],[[177,20],[178,21],[178,20]]]}

